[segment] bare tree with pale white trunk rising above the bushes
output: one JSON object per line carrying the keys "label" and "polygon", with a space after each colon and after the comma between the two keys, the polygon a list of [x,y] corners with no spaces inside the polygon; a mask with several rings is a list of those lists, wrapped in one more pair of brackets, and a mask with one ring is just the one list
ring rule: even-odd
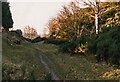
{"label": "bare tree with pale white trunk rising above the bushes", "polygon": [[84,6],[90,7],[93,10],[94,15],[89,12],[87,12],[86,14],[95,19],[96,34],[98,34],[99,33],[99,18],[101,17],[103,12],[106,10],[106,7],[109,6],[109,4],[106,4],[106,6],[104,6],[103,8],[100,8],[100,3],[101,3],[100,0],[80,0],[76,2],[79,4],[83,4]]}

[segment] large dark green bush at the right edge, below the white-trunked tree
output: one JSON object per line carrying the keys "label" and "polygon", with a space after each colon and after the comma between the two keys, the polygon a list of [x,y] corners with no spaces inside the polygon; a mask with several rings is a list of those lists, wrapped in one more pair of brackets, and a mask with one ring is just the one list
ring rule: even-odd
{"label": "large dark green bush at the right edge, below the white-trunked tree", "polygon": [[120,64],[120,27],[104,28],[99,35],[93,35],[88,50],[95,54],[98,61]]}

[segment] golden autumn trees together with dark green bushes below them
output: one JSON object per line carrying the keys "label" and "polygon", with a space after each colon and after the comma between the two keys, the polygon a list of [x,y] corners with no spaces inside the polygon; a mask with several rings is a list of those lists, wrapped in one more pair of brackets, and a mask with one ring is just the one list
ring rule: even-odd
{"label": "golden autumn trees together with dark green bushes below them", "polygon": [[[85,7],[80,6],[85,5]],[[93,55],[98,62],[120,64],[120,1],[75,1],[48,22],[46,42],[60,44],[71,55]]]}

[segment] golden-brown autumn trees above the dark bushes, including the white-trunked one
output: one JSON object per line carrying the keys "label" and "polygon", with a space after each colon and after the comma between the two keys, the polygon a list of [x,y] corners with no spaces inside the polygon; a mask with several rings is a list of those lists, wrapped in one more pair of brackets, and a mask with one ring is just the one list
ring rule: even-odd
{"label": "golden-brown autumn trees above the dark bushes, including the white-trunked one", "polygon": [[[80,4],[87,7],[81,8]],[[120,9],[119,2],[96,2],[87,0],[71,2],[48,22],[49,35],[74,40],[81,35],[98,34],[108,18]],[[119,12],[118,12],[119,13]]]}

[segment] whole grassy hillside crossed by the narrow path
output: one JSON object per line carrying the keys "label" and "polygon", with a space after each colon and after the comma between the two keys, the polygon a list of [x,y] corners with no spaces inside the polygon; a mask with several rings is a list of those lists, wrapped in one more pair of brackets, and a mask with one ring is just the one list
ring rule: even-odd
{"label": "whole grassy hillside crossed by the narrow path", "polygon": [[[20,41],[20,44],[14,43],[14,38]],[[70,56],[69,53],[60,52],[58,45],[45,44],[44,41],[30,43],[19,38],[15,32],[3,33],[2,46],[3,80],[51,79],[52,72],[61,80],[98,80],[120,77],[119,75],[115,78],[101,77],[104,73],[116,68],[113,69],[105,62],[96,63],[92,56],[89,58]],[[52,70],[51,75],[47,73],[45,64],[49,70]]]}

